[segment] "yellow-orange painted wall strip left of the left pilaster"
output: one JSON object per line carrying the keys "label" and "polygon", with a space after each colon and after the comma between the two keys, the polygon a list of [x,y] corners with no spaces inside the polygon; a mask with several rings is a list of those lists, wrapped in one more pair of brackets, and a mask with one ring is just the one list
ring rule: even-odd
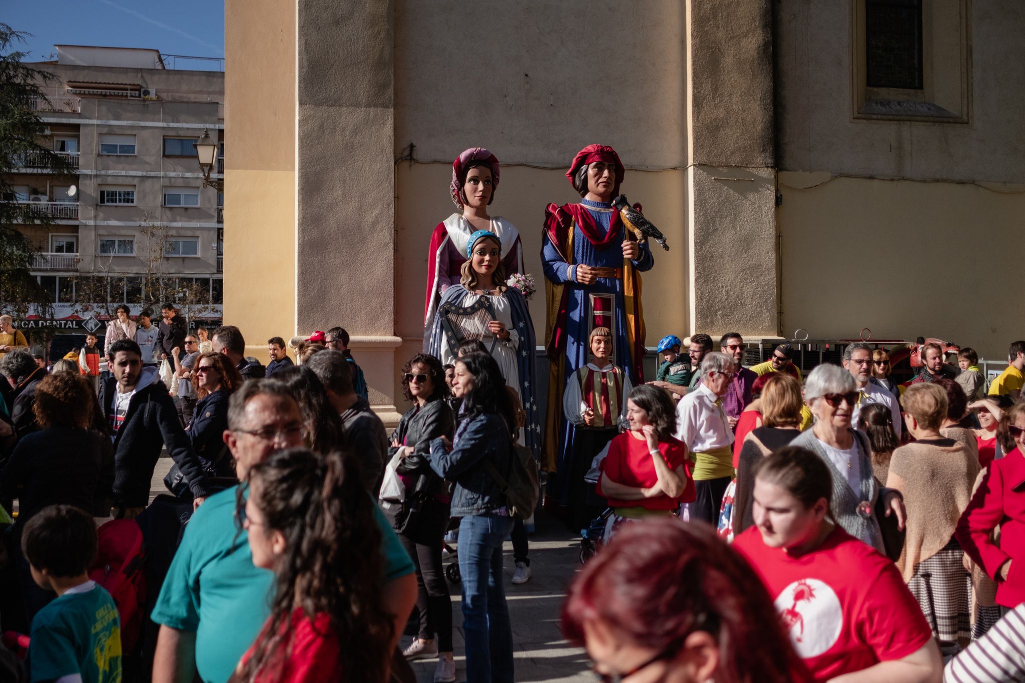
{"label": "yellow-orange painted wall strip left of the left pilaster", "polygon": [[[295,331],[295,5],[227,0],[224,323],[264,361]],[[258,17],[256,20],[254,17]]]}

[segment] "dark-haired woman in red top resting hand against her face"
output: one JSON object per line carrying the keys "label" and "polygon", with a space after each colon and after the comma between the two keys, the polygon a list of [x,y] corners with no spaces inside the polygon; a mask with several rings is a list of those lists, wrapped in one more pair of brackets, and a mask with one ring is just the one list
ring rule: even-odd
{"label": "dark-haired woman in red top resting hand against her face", "polygon": [[672,434],[676,412],[663,389],[642,384],[626,400],[629,431],[609,443],[602,461],[598,494],[608,499],[605,540],[624,519],[669,515],[694,500],[694,480],[687,467],[687,446]]}

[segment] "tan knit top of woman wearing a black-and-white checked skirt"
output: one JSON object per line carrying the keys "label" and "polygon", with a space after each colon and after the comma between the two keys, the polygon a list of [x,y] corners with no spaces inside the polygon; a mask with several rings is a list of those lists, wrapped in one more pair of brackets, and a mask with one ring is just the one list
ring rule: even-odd
{"label": "tan knit top of woman wearing a black-and-white checked skirt", "polygon": [[894,451],[887,486],[904,495],[907,509],[904,551],[897,560],[905,582],[914,577],[919,562],[950,542],[978,474],[979,459],[957,441],[915,441]]}

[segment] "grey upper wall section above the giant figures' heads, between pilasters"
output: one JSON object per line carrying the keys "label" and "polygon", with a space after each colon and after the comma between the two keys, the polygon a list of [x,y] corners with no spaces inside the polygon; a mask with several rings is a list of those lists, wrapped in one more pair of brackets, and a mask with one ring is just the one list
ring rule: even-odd
{"label": "grey upper wall section above the giant figures' heads, between pilasters", "polygon": [[451,164],[479,144],[561,168],[602,142],[630,168],[686,165],[683,2],[395,8],[397,156],[413,142],[420,161]]}

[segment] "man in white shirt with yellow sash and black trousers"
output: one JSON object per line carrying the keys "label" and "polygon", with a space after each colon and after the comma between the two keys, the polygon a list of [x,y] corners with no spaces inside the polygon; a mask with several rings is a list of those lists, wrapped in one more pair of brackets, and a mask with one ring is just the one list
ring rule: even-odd
{"label": "man in white shirt with yellow sash and black trousers", "polygon": [[737,373],[737,365],[726,353],[709,351],[701,359],[701,380],[676,404],[676,438],[687,444],[694,463],[691,519],[714,525],[723,495],[733,478],[733,430],[723,396]]}

